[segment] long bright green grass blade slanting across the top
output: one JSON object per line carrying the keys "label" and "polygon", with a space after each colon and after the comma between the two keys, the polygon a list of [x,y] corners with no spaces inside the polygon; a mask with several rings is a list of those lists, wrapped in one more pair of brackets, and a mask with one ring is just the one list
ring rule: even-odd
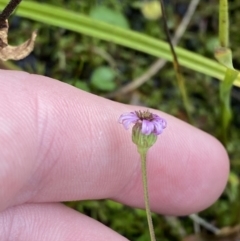
{"label": "long bright green grass blade slanting across the top", "polygon": [[[0,0],[0,9],[3,9],[7,3],[6,0]],[[96,21],[73,11],[48,4],[23,1],[16,14],[172,61],[169,46],[164,41]],[[182,66],[220,80],[224,79],[226,68],[217,62],[182,48],[176,48],[176,52]],[[240,87],[240,77],[234,84]]]}

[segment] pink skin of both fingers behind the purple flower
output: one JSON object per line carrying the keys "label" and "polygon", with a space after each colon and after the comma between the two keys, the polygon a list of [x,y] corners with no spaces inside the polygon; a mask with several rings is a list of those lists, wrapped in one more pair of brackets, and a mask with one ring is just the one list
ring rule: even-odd
{"label": "pink skin of both fingers behind the purple flower", "polygon": [[[126,240],[59,202],[108,198],[144,208],[140,158],[131,131],[117,120],[146,108],[0,70],[0,110],[0,240]],[[151,111],[168,122],[148,154],[152,211],[207,208],[226,185],[225,149],[209,134]]]}

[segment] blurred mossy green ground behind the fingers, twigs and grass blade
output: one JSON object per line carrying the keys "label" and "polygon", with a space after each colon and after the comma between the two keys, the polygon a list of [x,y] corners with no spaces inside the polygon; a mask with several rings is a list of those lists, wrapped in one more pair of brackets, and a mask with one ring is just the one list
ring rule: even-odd
{"label": "blurred mossy green ground behind the fingers, twigs and grass blade", "polygon": [[[142,1],[39,0],[33,2],[69,9],[123,29],[166,40],[162,20],[150,20],[144,16],[141,11]],[[168,27],[172,35],[181,25],[190,2],[189,0],[165,1]],[[217,0],[199,2],[187,30],[180,38],[179,46],[214,59],[213,52],[218,45],[218,2]],[[151,13],[150,11],[150,17]],[[99,96],[160,109],[184,121],[188,120],[171,62],[159,68],[157,74],[147,78],[140,86],[119,94],[119,90],[139,79],[157,60],[156,57],[110,41],[102,41],[51,24],[19,17],[17,14],[12,15],[9,22],[10,44],[20,44],[35,29],[38,30],[38,37],[34,51],[28,57],[14,63],[1,63],[2,68],[21,68],[31,73],[50,76]],[[233,62],[235,68],[240,69],[238,0],[230,2],[230,22]],[[192,105],[193,124],[220,138],[219,80],[185,67],[182,71]],[[239,240],[237,239],[239,229],[236,227],[240,221],[240,92],[237,87],[232,90],[231,104],[233,120],[225,143],[231,159],[229,182],[221,198],[199,214],[216,227],[220,229],[229,227],[229,230],[226,237],[219,238],[205,228],[201,228],[204,237],[198,239],[193,236],[191,240]],[[99,220],[130,240],[149,240],[147,219],[143,210],[126,207],[110,200],[76,201],[67,205]],[[162,241],[190,240],[188,235],[195,232],[193,221],[189,217],[172,219],[154,214],[153,222],[156,237]],[[234,237],[230,236],[231,232],[234,232]]]}

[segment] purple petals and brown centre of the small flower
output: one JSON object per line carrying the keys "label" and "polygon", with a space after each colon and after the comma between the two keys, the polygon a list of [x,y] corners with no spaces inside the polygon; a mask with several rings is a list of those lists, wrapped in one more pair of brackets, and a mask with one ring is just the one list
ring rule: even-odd
{"label": "purple petals and brown centre of the small flower", "polygon": [[141,132],[144,135],[159,135],[163,132],[163,129],[167,127],[165,119],[156,114],[152,114],[148,110],[122,114],[118,121],[123,124],[125,129],[128,129],[131,124],[137,125],[141,128]]}

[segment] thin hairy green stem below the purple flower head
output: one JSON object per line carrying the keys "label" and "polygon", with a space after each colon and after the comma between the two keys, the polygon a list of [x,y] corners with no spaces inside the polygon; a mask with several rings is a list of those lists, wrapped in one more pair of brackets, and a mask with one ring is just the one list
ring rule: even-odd
{"label": "thin hairy green stem below the purple flower head", "polygon": [[[139,148],[140,149],[140,148]],[[143,191],[144,191],[144,202],[145,209],[148,220],[148,227],[150,232],[151,241],[156,241],[156,237],[153,229],[152,215],[149,204],[149,195],[148,195],[148,181],[147,181],[147,150],[139,150],[138,152],[141,156],[141,165],[142,165],[142,180],[143,180]]]}

